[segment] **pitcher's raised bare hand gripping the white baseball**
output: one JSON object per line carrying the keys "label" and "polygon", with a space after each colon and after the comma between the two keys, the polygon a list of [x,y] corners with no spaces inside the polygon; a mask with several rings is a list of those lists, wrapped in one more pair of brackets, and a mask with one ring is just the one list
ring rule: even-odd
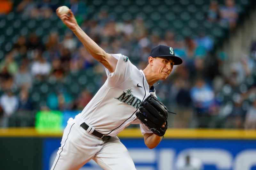
{"label": "pitcher's raised bare hand gripping the white baseball", "polygon": [[56,10],[57,16],[69,29],[74,30],[75,27],[78,25],[74,13],[71,10],[69,10],[67,14],[60,14],[58,12],[59,8]]}

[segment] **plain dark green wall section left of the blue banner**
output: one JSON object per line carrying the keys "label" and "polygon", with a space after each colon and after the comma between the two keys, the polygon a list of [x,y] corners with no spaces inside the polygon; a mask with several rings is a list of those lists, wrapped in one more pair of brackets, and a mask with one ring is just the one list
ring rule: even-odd
{"label": "plain dark green wall section left of the blue banner", "polygon": [[40,170],[43,160],[43,138],[1,137],[1,170]]}

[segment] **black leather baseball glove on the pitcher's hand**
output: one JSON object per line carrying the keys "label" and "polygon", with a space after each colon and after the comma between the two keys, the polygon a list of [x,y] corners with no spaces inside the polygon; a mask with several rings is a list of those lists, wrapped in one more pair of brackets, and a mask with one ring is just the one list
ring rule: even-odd
{"label": "black leather baseball glove on the pitcher's hand", "polygon": [[[136,116],[140,122],[145,124],[154,134],[164,136],[168,128],[168,109],[155,96],[150,94],[140,103],[139,112]],[[172,113],[172,112],[171,112]],[[164,127],[162,127],[165,124]]]}

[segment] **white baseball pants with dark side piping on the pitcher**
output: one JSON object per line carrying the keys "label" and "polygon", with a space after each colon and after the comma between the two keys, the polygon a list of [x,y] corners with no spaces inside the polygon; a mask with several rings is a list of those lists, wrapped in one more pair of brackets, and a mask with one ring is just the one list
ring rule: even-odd
{"label": "white baseball pants with dark side piping on the pitcher", "polygon": [[51,170],[80,169],[93,159],[104,170],[136,170],[126,147],[118,137],[102,141],[88,134],[70,118]]}

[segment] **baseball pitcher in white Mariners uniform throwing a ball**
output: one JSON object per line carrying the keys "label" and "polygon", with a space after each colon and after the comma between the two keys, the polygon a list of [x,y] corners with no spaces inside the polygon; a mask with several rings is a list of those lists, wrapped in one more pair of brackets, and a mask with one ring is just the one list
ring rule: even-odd
{"label": "baseball pitcher in white Mariners uniform throwing a ball", "polygon": [[59,14],[58,9],[58,17],[103,64],[108,78],[83,111],[68,120],[52,170],[80,169],[91,159],[106,170],[134,170],[116,135],[130,124],[140,124],[148,148],[159,144],[168,127],[168,110],[156,98],[153,84],[166,79],[182,60],[171,47],[159,45],[152,49],[147,67],[138,70],[127,56],[108,54],[92,41],[71,10]]}

